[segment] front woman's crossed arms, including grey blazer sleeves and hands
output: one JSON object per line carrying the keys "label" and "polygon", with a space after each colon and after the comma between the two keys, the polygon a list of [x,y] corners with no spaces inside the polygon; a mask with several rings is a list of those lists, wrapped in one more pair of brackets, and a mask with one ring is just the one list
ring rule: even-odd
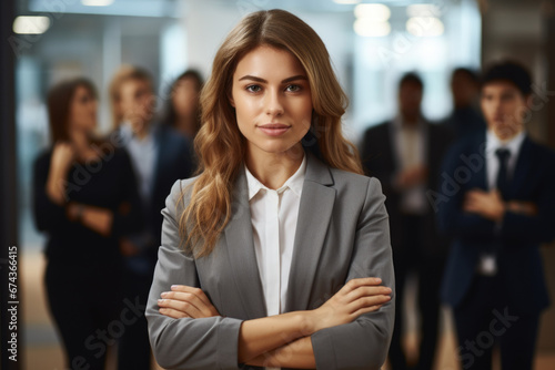
{"label": "front woman's crossed arms, including grey blazer sleeves and hands", "polygon": [[[375,196],[381,194],[376,181],[369,182],[363,212],[356,222],[346,284],[316,309],[252,320],[233,317],[231,312],[220,316],[198,288],[202,286],[200,266],[179,248],[175,215],[180,213],[181,204],[176,201],[181,187],[179,183],[174,185],[173,196],[162,210],[162,245],[147,308],[152,348],[162,367],[236,369],[238,364],[248,363],[379,369],[383,364],[393,327],[394,305],[390,295],[394,292],[381,286],[380,279],[367,276],[380,276],[392,288],[394,280],[387,215],[383,196]],[[210,265],[215,261],[220,260],[211,260]],[[202,278],[209,286],[216,282],[206,280],[210,277],[204,275]],[[176,281],[182,286],[170,290]]]}

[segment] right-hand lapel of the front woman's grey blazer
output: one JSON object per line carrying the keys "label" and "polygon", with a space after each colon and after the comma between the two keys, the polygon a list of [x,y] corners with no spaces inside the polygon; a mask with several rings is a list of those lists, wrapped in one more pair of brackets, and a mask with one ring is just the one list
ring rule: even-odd
{"label": "right-hand lapel of the front woman's grey blazer", "polygon": [[335,202],[335,189],[329,187],[333,185],[330,169],[310,152],[306,155],[306,175],[299,206],[285,311],[309,308],[320,253]]}

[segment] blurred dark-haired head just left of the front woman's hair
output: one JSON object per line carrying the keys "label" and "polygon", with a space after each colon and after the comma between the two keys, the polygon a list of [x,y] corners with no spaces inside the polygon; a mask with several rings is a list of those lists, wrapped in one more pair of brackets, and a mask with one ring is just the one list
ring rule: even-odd
{"label": "blurred dark-haired head just left of the front woman's hair", "polygon": [[195,70],[179,75],[170,86],[165,115],[162,120],[191,141],[201,127],[200,94],[204,81]]}

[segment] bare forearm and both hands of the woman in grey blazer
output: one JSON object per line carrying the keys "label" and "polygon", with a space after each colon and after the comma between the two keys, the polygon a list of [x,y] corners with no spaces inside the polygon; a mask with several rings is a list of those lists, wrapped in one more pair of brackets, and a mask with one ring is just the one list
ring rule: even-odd
{"label": "bare forearm and both hands of the woman in grey blazer", "polygon": [[[243,321],[239,331],[240,363],[286,368],[316,367],[310,336],[377,310],[391,299],[379,278],[350,280],[320,308]],[[220,316],[200,288],[172,286],[161,294],[160,314],[174,319]]]}

